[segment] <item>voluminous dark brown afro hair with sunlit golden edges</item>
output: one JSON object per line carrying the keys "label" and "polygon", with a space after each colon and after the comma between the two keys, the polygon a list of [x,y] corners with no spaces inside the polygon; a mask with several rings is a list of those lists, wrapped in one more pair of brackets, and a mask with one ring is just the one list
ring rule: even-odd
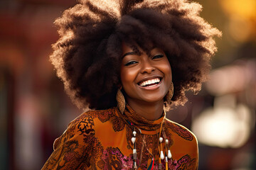
{"label": "voluminous dark brown afro hair with sunlit golden edges", "polygon": [[122,42],[148,52],[160,47],[171,64],[174,96],[167,105],[187,101],[210,70],[218,29],[199,16],[202,6],[186,0],[80,0],[57,18],[60,38],[50,61],[65,91],[79,108],[116,106]]}

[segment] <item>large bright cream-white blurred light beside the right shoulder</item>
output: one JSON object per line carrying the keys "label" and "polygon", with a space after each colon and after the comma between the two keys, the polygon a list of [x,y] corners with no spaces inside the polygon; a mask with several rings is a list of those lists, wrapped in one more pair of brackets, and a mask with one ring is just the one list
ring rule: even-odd
{"label": "large bright cream-white blurred light beside the right shoulder", "polygon": [[[255,113],[247,106],[230,103],[234,96],[215,98],[213,108],[206,108],[193,121],[192,130],[198,141],[215,147],[241,147],[250,137],[255,125]],[[225,103],[223,106],[222,103]],[[227,103],[230,103],[227,106]]]}

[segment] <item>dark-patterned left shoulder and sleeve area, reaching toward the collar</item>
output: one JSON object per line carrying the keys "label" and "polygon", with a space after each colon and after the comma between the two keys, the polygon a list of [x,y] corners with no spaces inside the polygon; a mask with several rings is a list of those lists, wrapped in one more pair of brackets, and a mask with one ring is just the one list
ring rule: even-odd
{"label": "dark-patterned left shoulder and sleeve area, reaching toward the collar", "polygon": [[103,151],[100,140],[95,136],[95,122],[101,122],[100,118],[105,121],[112,114],[111,109],[87,111],[71,121],[63,135],[53,143],[53,154],[43,169],[79,169],[80,166],[95,164],[95,159]]}

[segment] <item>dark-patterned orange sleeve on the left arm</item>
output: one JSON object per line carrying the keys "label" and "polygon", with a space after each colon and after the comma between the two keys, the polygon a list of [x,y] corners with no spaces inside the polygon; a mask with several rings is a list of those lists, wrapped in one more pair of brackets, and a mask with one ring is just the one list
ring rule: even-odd
{"label": "dark-patterned orange sleeve on the left arm", "polygon": [[53,144],[53,153],[44,164],[46,169],[87,169],[91,165],[95,143],[93,119],[82,115],[73,120]]}

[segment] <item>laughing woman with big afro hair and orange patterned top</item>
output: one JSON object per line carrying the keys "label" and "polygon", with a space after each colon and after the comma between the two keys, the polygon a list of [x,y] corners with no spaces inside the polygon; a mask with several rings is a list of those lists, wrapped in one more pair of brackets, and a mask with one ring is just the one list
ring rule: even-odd
{"label": "laughing woman with big afro hair and orange patterned top", "polygon": [[[192,132],[166,118],[199,91],[220,32],[183,0],[86,1],[55,21],[53,62],[80,108],[43,169],[197,169]],[[177,113],[178,114],[178,113]]]}

